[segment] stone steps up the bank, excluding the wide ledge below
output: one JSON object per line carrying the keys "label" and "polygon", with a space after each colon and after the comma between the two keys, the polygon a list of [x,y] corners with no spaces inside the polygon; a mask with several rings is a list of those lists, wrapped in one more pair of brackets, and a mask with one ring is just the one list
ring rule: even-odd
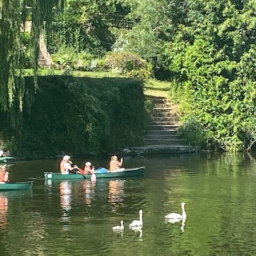
{"label": "stone steps up the bank, excluding the wide ledge below", "polygon": [[180,119],[177,106],[165,98],[154,98],[153,103],[154,113],[143,139],[144,145],[184,145],[177,134]]}

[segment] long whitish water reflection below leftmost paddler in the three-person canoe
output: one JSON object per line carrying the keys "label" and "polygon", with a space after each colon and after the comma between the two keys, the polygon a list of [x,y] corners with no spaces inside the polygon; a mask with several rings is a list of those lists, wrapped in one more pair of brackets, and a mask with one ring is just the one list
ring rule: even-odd
{"label": "long whitish water reflection below leftmost paddler in the three-person canoe", "polygon": [[69,215],[72,208],[72,185],[69,181],[60,183],[60,207],[62,209],[61,222],[63,228],[68,229]]}

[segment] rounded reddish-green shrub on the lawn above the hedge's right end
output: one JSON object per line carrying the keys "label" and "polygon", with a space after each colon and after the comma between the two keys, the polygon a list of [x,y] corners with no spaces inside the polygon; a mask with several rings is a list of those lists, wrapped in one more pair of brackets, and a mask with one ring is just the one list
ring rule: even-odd
{"label": "rounded reddish-green shrub on the lawn above the hedge's right end", "polygon": [[149,79],[152,66],[146,60],[132,52],[113,52],[106,55],[106,62],[111,71],[131,77]]}

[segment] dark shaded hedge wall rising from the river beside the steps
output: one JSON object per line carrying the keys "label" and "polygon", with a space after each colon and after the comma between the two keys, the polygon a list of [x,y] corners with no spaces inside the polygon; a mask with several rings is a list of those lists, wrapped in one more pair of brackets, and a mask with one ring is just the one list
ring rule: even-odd
{"label": "dark shaded hedge wall rising from the river beside the steps", "polygon": [[[27,86],[33,83],[26,78]],[[147,114],[138,79],[42,76],[38,86],[23,125],[0,126],[2,146],[13,155],[95,155],[140,144]]]}

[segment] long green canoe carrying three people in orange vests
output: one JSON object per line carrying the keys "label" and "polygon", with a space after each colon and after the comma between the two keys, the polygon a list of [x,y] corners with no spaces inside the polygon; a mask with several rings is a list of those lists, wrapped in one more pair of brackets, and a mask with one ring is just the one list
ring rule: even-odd
{"label": "long green canoe carrying three people in orange vests", "polygon": [[[98,178],[126,178],[132,176],[141,176],[143,175],[143,171],[145,170],[145,166],[125,169],[122,172],[116,171],[107,171],[106,173],[95,173],[97,179]],[[82,174],[61,174],[54,172],[44,172],[44,177],[47,180],[81,180],[84,179]],[[91,179],[91,174],[85,174],[86,179]]]}

